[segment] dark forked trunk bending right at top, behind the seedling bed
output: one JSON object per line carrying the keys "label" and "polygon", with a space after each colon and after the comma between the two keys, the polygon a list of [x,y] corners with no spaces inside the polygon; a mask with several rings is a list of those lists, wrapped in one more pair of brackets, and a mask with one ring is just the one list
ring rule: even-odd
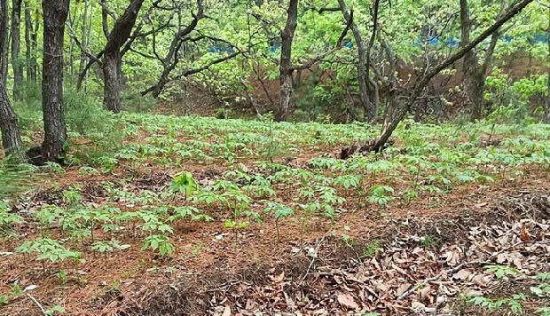
{"label": "dark forked trunk bending right at top, behind the seedling bed", "polygon": [[[107,36],[102,62],[105,83],[103,102],[105,107],[114,113],[121,111],[122,45],[130,38],[143,2],[144,0],[132,0],[126,11],[114,22],[113,29]],[[104,13],[105,16],[106,13]],[[104,29],[106,29],[105,25]]]}

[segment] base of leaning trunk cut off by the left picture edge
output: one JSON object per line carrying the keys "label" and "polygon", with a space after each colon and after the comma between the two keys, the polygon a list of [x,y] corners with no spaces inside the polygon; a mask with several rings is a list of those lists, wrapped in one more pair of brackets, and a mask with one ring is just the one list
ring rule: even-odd
{"label": "base of leaning trunk cut off by the left picture edge", "polygon": [[6,156],[12,155],[17,161],[23,157],[21,151],[21,135],[17,115],[13,112],[10,99],[4,84],[0,83],[0,131],[2,131],[2,146]]}

